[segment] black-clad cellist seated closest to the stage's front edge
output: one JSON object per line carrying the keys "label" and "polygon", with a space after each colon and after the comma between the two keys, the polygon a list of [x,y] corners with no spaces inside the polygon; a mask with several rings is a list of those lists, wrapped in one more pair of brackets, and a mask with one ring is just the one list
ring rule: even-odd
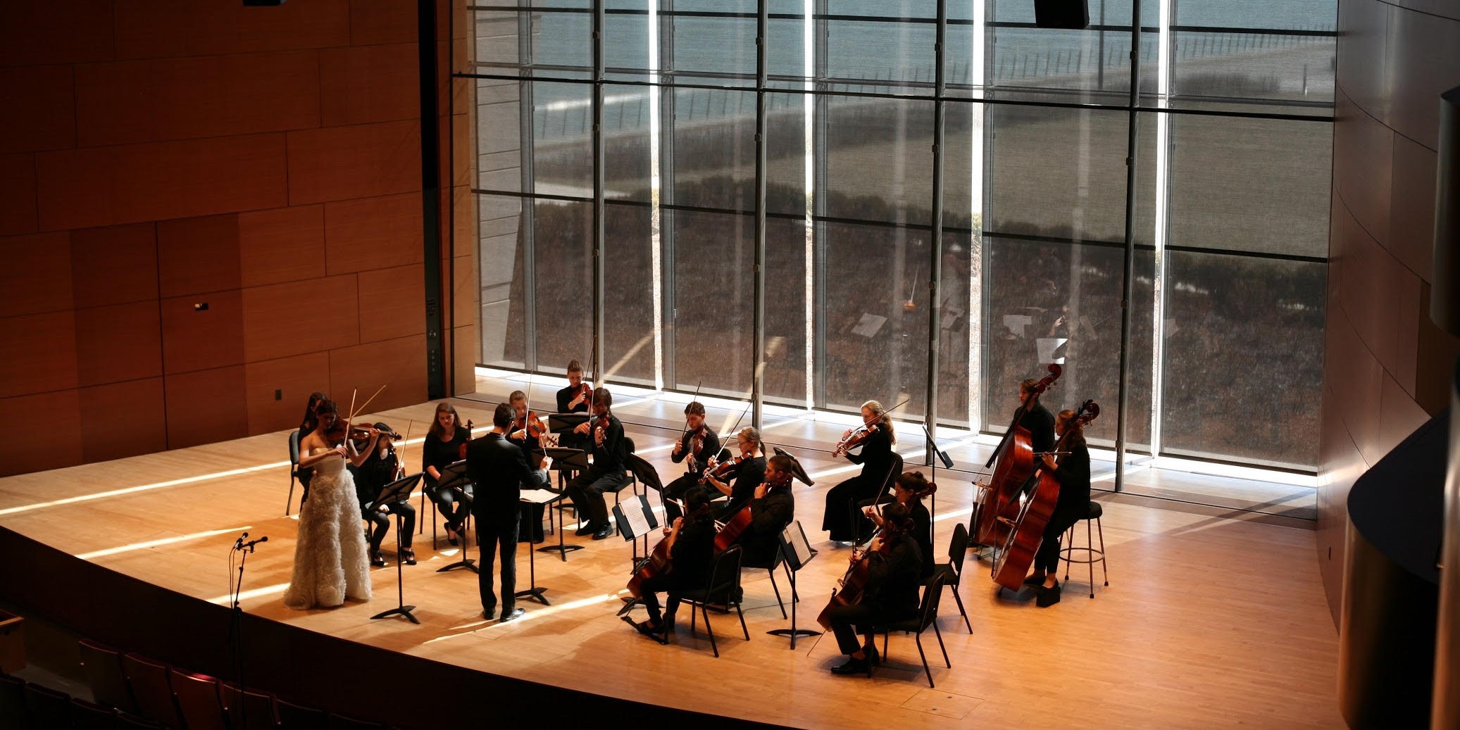
{"label": "black-clad cellist seated closest to the stage's front edge", "polygon": [[[869,562],[861,600],[835,606],[828,616],[837,635],[837,647],[848,656],[845,663],[831,667],[832,675],[863,675],[870,664],[880,663],[872,628],[917,615],[923,555],[911,530],[896,529],[907,526],[908,508],[901,502],[891,502],[882,510],[882,518],[889,523],[889,529],[872,540],[861,558]],[[866,637],[866,642],[858,641],[858,632]]]}

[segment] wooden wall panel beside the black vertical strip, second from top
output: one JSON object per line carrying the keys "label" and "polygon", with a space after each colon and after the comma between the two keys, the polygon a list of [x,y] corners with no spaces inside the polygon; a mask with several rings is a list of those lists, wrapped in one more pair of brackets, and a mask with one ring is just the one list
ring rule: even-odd
{"label": "wooden wall panel beside the black vertical strip, second from top", "polygon": [[320,118],[326,127],[420,117],[415,44],[320,51]]}

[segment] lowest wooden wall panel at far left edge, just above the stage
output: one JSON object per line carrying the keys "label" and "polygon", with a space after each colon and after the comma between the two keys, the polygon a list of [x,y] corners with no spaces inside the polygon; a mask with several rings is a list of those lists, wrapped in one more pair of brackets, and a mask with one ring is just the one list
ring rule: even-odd
{"label": "lowest wooden wall panel at far left edge, just above the stage", "polygon": [[72,423],[72,428],[15,428],[6,435],[0,476],[58,469],[82,460],[80,397],[76,390],[0,399],[6,423]]}

